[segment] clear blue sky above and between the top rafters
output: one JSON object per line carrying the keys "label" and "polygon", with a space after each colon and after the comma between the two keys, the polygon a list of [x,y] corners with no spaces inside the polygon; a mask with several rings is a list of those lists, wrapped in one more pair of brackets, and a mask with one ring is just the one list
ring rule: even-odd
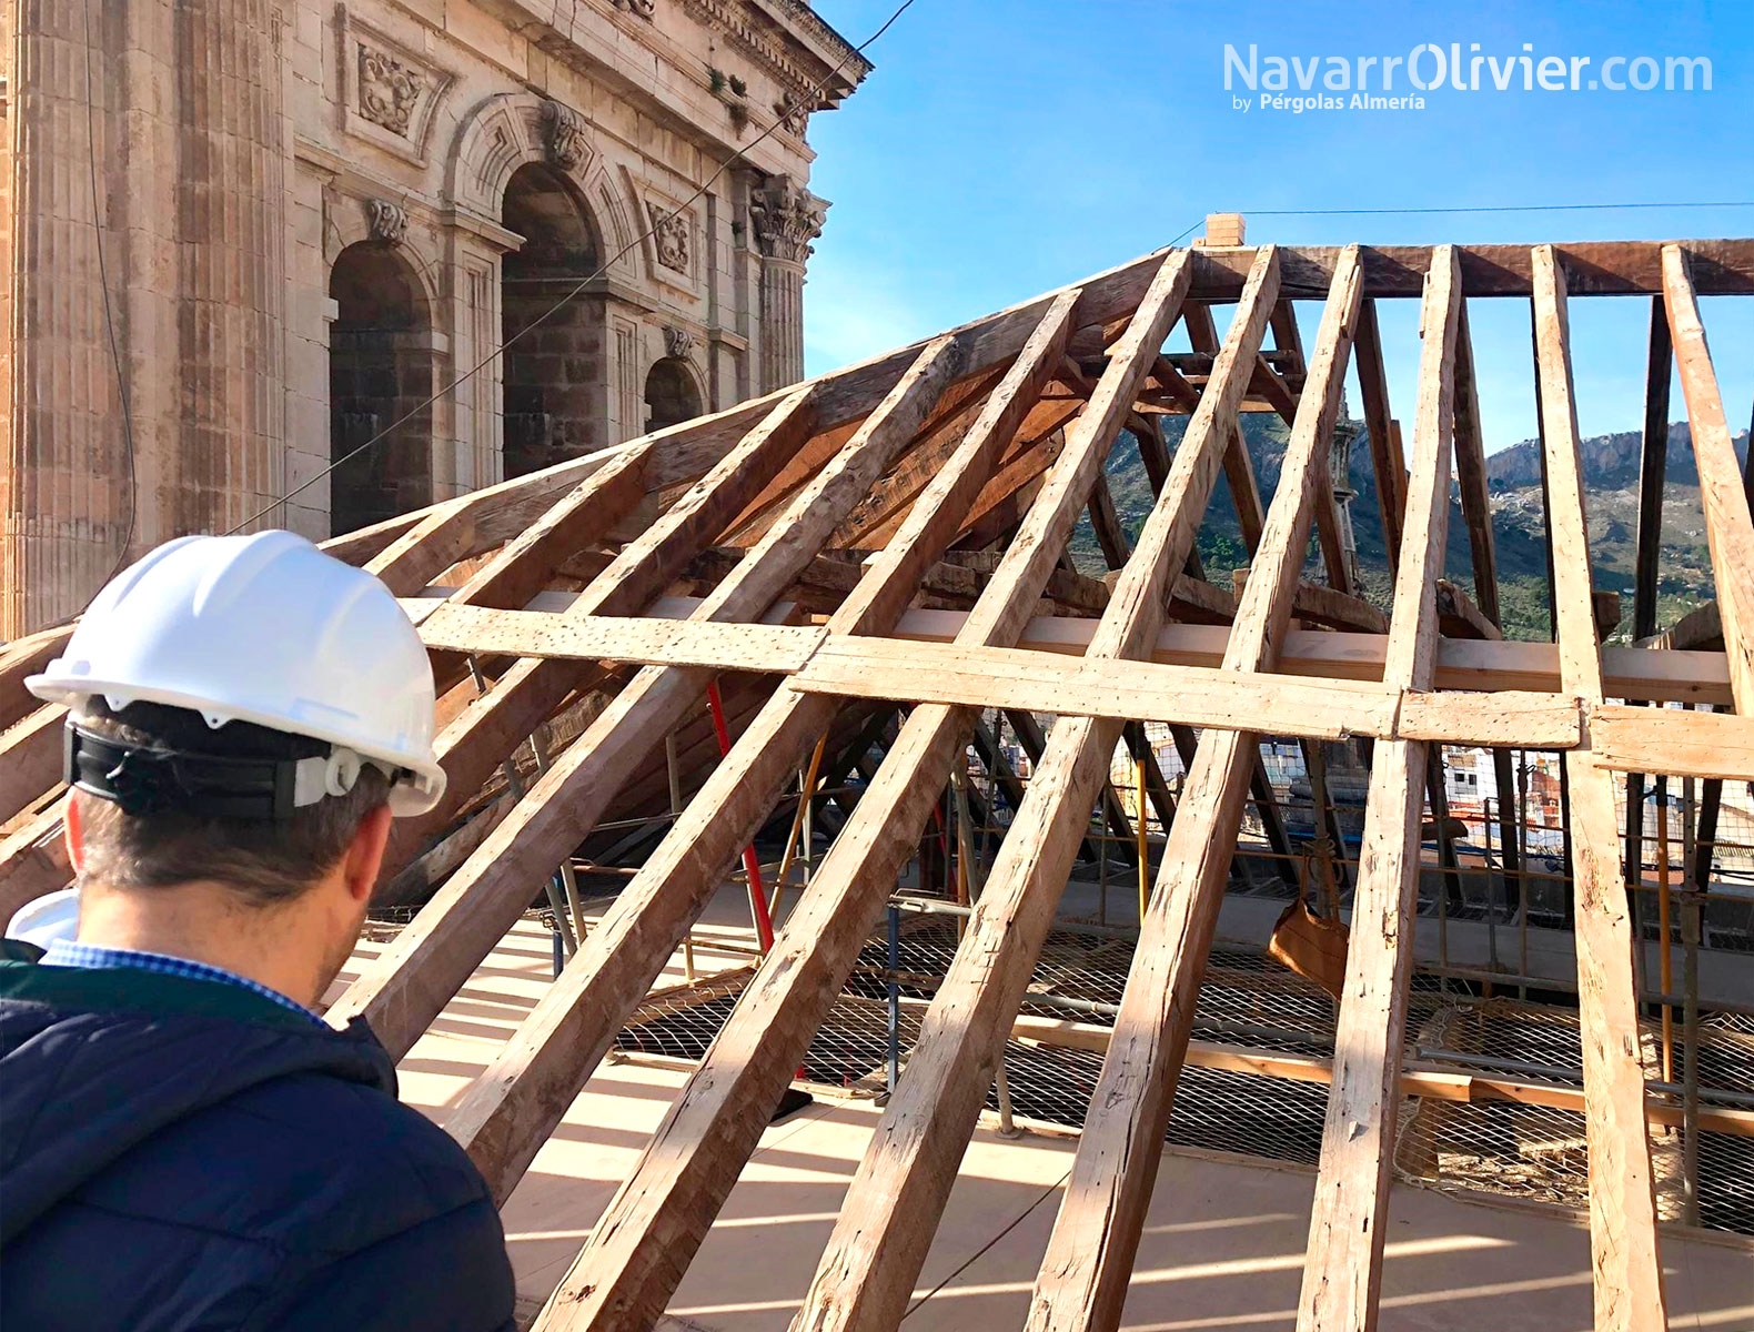
{"label": "clear blue sky above and between the top rafters", "polygon": [[[898,0],[819,0],[865,40]],[[1654,16],[1661,23],[1654,23]],[[1235,109],[1224,47],[1268,54],[1707,56],[1712,91],[1426,93],[1424,111]],[[1754,4],[1149,4],[917,0],[872,47],[877,70],[812,119],[812,188],[833,200],[810,265],[812,374],[910,342],[1170,242],[1207,212],[1249,240],[1524,242],[1754,233],[1754,209],[1463,216],[1266,216],[1273,209],[1754,200]],[[1430,77],[1430,56],[1424,77]],[[1649,67],[1614,70],[1647,75]],[[1380,65],[1370,70],[1380,93]],[[1296,91],[1293,84],[1293,91]],[[1321,91],[1317,77],[1316,91]],[[1394,93],[1407,93],[1405,70]],[[1733,428],[1754,402],[1754,297],[1703,305]],[[1300,314],[1314,335],[1319,305]],[[1535,433],[1528,305],[1470,304],[1486,444]],[[1586,435],[1642,416],[1649,305],[1572,305]],[[1410,418],[1415,302],[1384,307],[1396,414]],[[1358,407],[1352,393],[1354,411]],[[1680,391],[1672,416],[1680,418]]]}

